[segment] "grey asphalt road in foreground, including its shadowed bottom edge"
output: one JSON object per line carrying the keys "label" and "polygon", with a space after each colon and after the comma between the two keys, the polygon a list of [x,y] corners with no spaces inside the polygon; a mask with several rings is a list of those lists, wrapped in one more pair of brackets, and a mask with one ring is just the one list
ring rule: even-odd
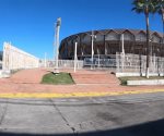
{"label": "grey asphalt road in foreground, including its shadowed bottom edge", "polygon": [[0,99],[0,136],[163,136],[164,94]]}

